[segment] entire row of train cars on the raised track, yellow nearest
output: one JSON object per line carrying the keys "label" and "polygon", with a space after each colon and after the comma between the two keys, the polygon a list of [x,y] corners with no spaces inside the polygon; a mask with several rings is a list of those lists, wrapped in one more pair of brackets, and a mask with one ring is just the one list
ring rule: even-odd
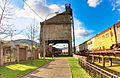
{"label": "entire row of train cars on the raised track, yellow nearest", "polygon": [[120,49],[120,21],[79,45],[80,54],[88,50]]}

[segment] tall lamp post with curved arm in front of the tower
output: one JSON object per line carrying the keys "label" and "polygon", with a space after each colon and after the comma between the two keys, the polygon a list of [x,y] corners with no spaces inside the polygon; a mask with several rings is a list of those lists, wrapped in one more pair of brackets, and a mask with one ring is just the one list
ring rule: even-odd
{"label": "tall lamp post with curved arm in front of the tower", "polygon": [[[49,13],[47,16],[46,16],[46,18],[45,18],[45,21],[44,21],[44,26],[46,27],[46,23],[47,23],[47,21],[46,21],[46,19],[48,18],[48,16],[50,16],[50,15],[52,15],[52,14],[58,14],[59,12],[54,12],[54,13]],[[44,28],[44,27],[43,27]],[[45,44],[45,37],[44,37],[44,33],[45,33],[45,31],[43,31],[43,61],[45,62],[45,55],[46,55],[46,44]],[[47,43],[48,43],[48,41],[47,41]]]}

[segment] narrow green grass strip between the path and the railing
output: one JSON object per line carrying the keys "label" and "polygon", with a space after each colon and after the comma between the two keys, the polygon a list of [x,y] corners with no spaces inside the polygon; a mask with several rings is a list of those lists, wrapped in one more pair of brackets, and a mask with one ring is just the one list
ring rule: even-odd
{"label": "narrow green grass strip between the path and the railing", "polygon": [[78,60],[76,58],[68,57],[68,60],[73,78],[90,78],[85,70],[79,66]]}

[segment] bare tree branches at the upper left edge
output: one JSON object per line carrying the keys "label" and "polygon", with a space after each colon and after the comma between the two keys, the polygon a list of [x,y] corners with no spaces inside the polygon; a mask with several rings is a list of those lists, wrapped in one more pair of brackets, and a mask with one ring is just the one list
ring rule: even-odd
{"label": "bare tree branches at the upper left edge", "polygon": [[10,0],[0,0],[0,35],[5,33],[8,26],[11,26],[9,21],[13,16],[12,10]]}

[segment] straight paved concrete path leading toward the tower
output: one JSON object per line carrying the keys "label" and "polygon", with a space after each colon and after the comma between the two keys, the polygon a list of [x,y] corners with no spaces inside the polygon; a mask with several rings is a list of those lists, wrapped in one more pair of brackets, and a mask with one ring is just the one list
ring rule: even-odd
{"label": "straight paved concrete path leading toward the tower", "polygon": [[22,78],[72,78],[72,74],[67,58],[55,58]]}

